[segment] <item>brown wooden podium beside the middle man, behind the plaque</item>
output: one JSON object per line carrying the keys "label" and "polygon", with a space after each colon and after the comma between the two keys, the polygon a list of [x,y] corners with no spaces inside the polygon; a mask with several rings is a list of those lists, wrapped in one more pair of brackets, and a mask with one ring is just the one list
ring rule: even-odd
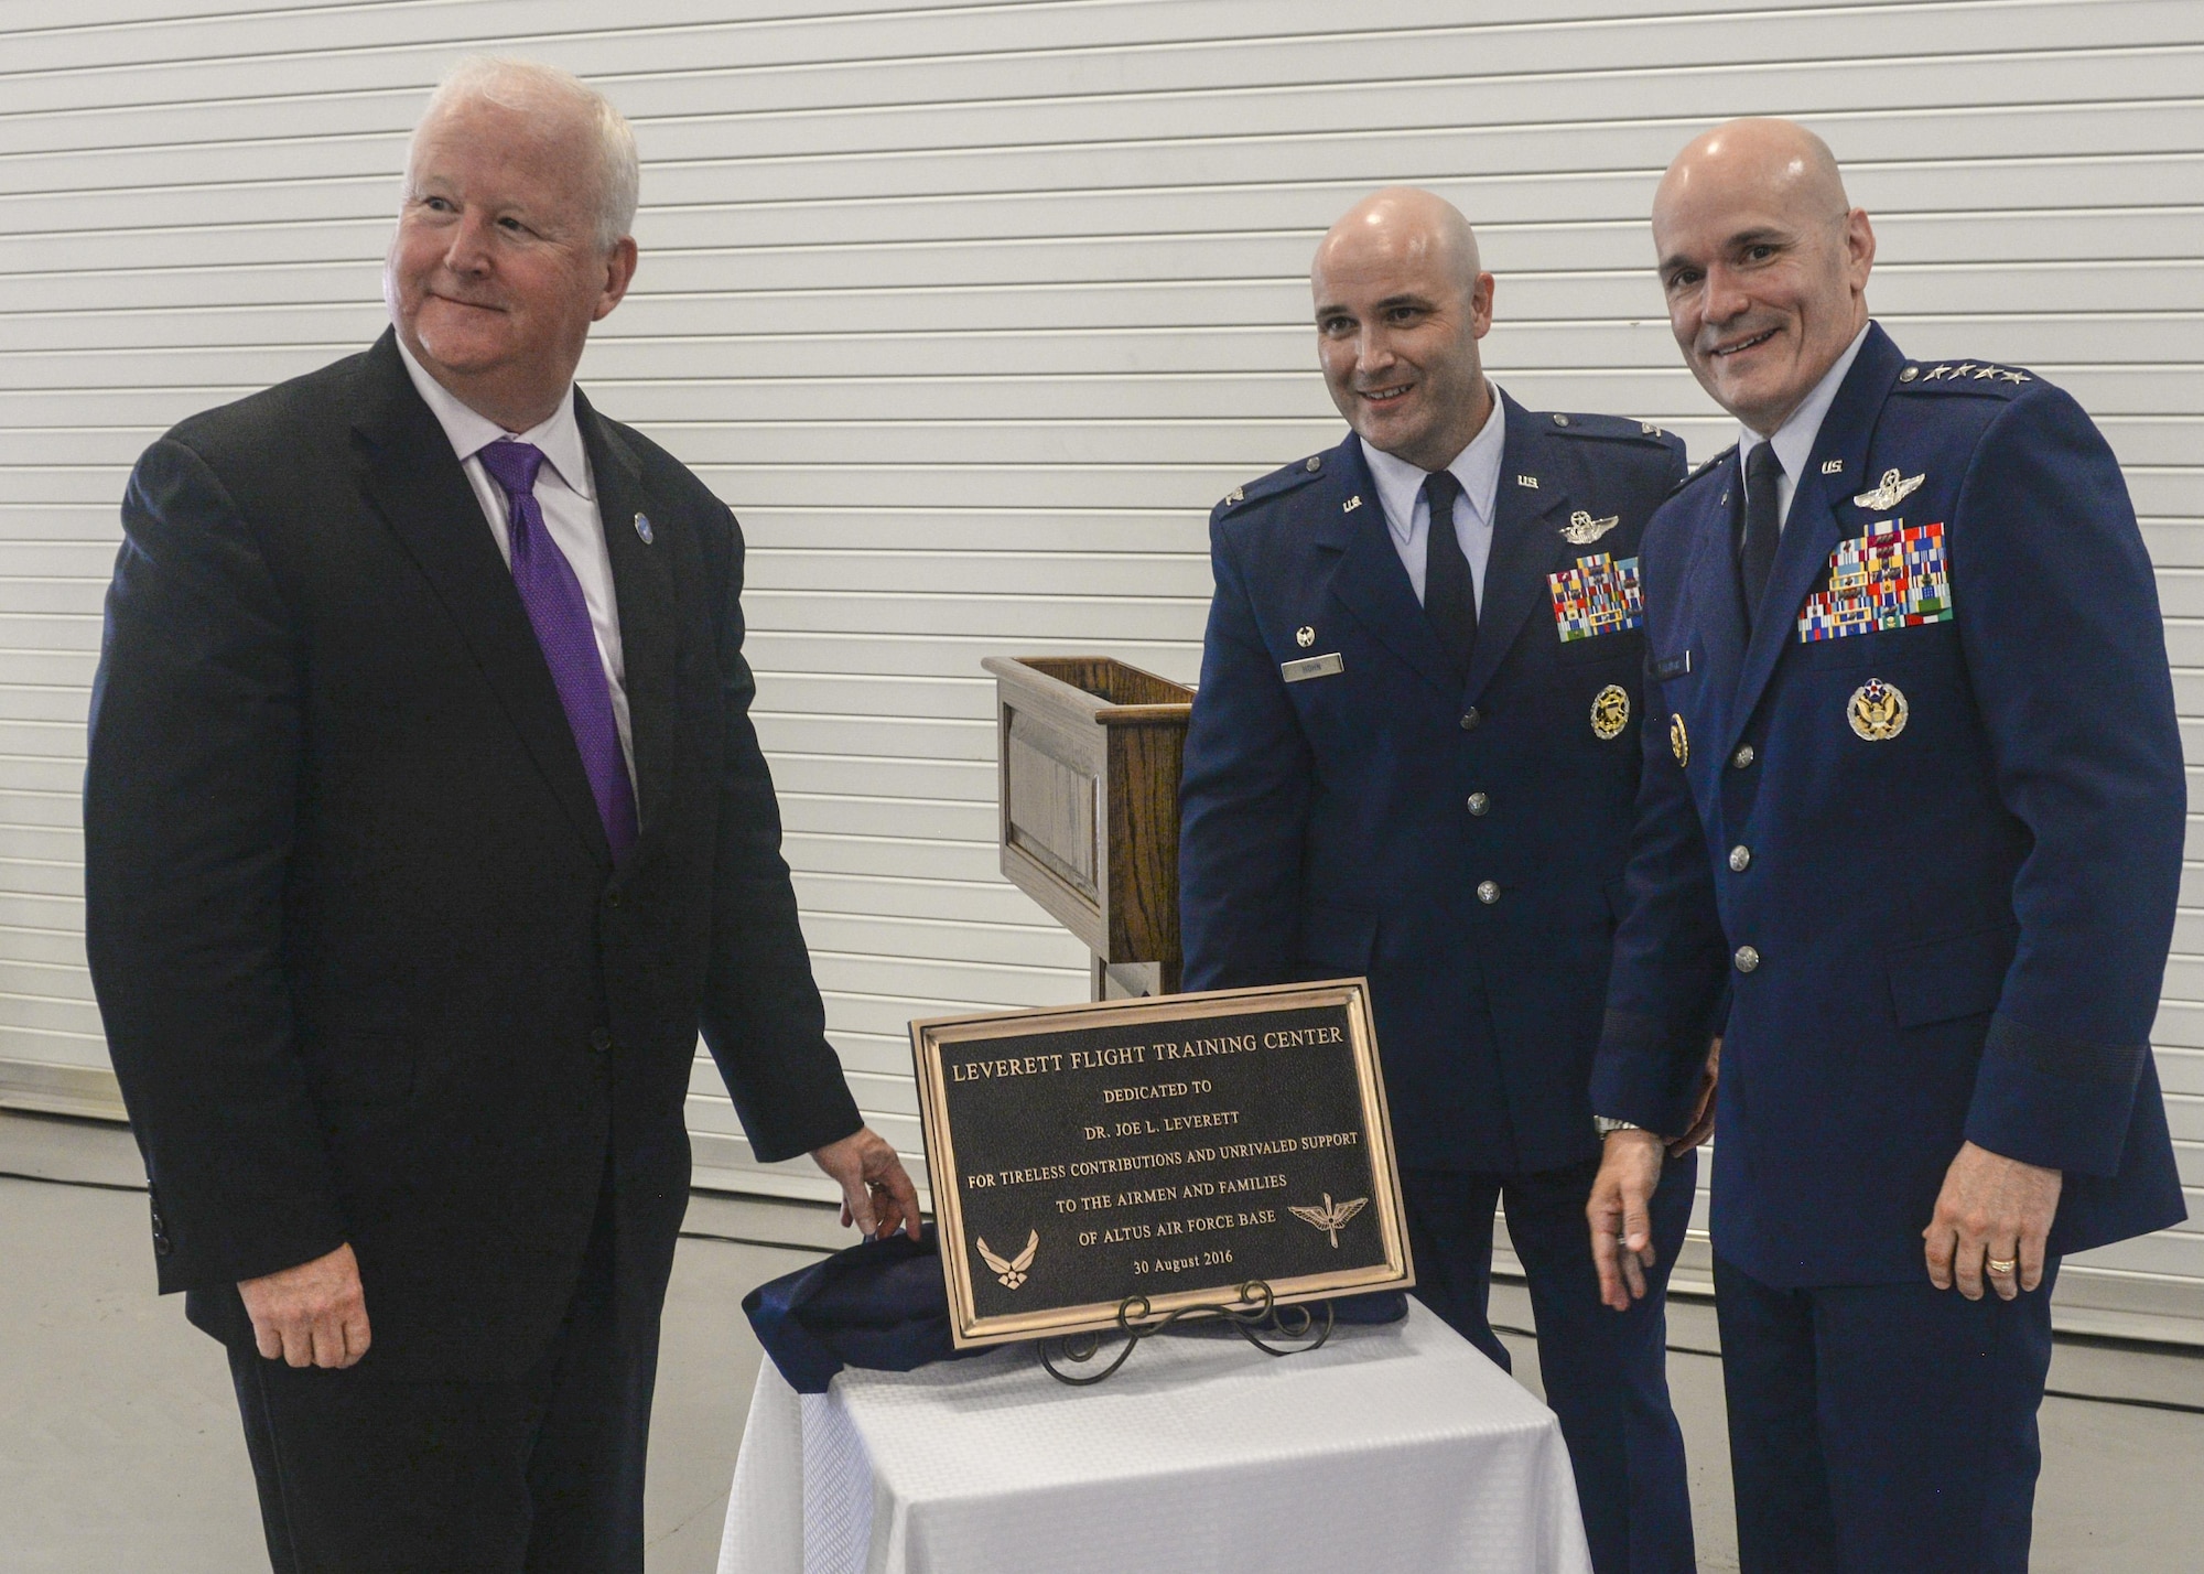
{"label": "brown wooden podium beside the middle man, behind the plaque", "polygon": [[1195,690],[1111,657],[987,657],[1003,873],[1093,952],[1093,999],[1179,992]]}

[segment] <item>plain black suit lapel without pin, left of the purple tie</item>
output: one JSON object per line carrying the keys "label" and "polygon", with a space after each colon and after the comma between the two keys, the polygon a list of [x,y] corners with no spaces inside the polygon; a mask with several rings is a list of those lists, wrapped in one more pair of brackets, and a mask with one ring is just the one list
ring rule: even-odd
{"label": "plain black suit lapel without pin, left of the purple tie", "polygon": [[436,591],[575,831],[599,862],[611,864],[597,800],[536,628],[474,487],[414,392],[390,333],[368,351],[364,381],[361,412],[353,421],[361,492]]}

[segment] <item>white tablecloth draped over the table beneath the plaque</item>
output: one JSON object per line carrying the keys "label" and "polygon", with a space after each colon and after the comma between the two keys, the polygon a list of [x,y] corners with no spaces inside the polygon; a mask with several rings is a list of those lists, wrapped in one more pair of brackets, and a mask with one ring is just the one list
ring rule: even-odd
{"label": "white tablecloth draped over the table beneath the plaque", "polygon": [[818,1395],[767,1360],[719,1554],[719,1574],[1589,1567],[1554,1413],[1413,1301],[1285,1360],[1155,1338],[1095,1389],[1025,1347]]}

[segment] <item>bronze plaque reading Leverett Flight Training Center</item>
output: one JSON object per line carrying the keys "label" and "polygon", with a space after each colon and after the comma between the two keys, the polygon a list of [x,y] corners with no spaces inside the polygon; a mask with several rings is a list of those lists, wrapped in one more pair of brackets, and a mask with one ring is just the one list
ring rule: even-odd
{"label": "bronze plaque reading Leverett Flight Training Center", "polygon": [[1415,1283],[1369,985],[912,1023],[959,1347]]}

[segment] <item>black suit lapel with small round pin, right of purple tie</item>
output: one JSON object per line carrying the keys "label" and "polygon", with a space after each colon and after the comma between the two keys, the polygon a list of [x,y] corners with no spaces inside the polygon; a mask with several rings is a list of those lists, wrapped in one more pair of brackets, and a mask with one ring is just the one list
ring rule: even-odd
{"label": "black suit lapel with small round pin, right of purple tie", "polygon": [[[626,668],[635,805],[641,820],[633,860],[644,853],[652,835],[663,831],[666,800],[672,791],[679,615],[668,556],[672,547],[661,536],[672,525],[672,514],[652,509],[641,461],[582,397],[580,388],[573,395],[573,406],[597,485],[597,518],[604,522],[604,545],[613,558],[613,595],[619,604],[619,655]],[[652,540],[644,540],[637,520],[655,520],[650,525]]]}

